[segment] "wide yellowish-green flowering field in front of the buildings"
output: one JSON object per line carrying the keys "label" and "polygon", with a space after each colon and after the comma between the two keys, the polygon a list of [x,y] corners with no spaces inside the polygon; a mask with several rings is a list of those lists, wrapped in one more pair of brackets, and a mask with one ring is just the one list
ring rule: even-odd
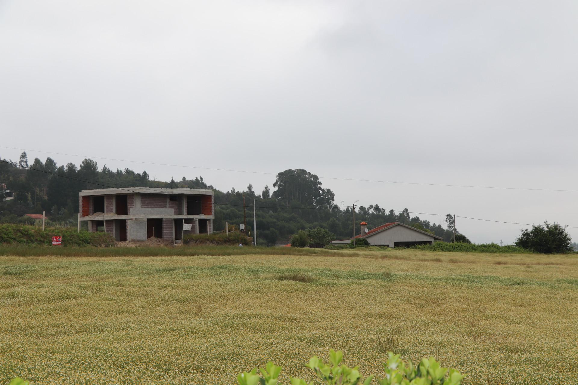
{"label": "wide yellowish-green flowering field in front of the buildings", "polygon": [[331,347],[364,376],[395,349],[465,384],[578,383],[578,256],[336,254],[0,256],[0,384],[233,384],[267,360],[283,383]]}

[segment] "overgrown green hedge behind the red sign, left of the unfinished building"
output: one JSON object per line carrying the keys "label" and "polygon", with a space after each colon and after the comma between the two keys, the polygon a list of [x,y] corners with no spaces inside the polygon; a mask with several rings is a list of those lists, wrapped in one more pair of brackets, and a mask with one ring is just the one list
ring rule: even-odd
{"label": "overgrown green hedge behind the red sign, left of the unfinished building", "polygon": [[0,244],[51,246],[52,237],[61,236],[62,246],[114,246],[112,234],[97,232],[80,233],[73,227],[42,227],[28,225],[0,225]]}

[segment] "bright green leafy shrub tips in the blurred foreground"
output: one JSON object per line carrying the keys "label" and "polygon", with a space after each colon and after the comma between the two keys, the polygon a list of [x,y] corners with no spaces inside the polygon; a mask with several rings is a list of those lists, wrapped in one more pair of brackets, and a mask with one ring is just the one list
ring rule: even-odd
{"label": "bright green leafy shrub tips in the blurred foreground", "polygon": [[[420,364],[414,366],[412,361],[407,364],[399,357],[400,354],[388,353],[388,360],[383,364],[386,377],[377,380],[380,385],[460,385],[464,376],[455,369],[442,368],[435,358],[424,358]],[[325,365],[318,357],[312,357],[307,364],[321,383],[326,385],[357,385],[362,379],[357,367],[349,368],[347,365],[339,365],[343,358],[343,353],[331,349],[329,351],[329,361],[331,365]],[[277,385],[277,378],[281,372],[281,367],[277,367],[273,362],[267,362],[265,369],[260,369],[261,375],[257,374],[257,369],[251,372],[243,372],[238,377],[239,385]],[[369,376],[362,382],[369,385],[373,381],[373,376]],[[305,380],[291,377],[291,385],[312,385]]]}

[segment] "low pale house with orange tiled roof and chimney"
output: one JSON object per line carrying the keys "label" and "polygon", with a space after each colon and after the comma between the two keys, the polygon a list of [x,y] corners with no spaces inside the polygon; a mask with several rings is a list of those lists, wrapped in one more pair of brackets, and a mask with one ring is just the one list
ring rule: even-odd
{"label": "low pale house with orange tiled roof and chimney", "polygon": [[[424,245],[440,241],[443,238],[434,234],[421,231],[415,227],[405,225],[400,222],[386,223],[385,225],[377,226],[375,229],[368,230],[367,223],[361,222],[361,234],[355,238],[365,238],[370,245],[374,246],[395,246],[405,247],[410,245]],[[353,238],[349,240],[331,241],[333,245],[349,244]]]}

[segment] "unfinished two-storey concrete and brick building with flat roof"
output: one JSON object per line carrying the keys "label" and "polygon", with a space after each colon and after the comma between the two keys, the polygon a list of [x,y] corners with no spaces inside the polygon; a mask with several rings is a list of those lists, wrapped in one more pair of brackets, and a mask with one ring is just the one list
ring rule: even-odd
{"label": "unfinished two-storey concrete and brick building with flat roof", "polygon": [[79,217],[88,222],[88,231],[106,231],[117,241],[155,237],[178,243],[184,234],[213,232],[213,190],[147,187],[82,190],[79,200]]}

